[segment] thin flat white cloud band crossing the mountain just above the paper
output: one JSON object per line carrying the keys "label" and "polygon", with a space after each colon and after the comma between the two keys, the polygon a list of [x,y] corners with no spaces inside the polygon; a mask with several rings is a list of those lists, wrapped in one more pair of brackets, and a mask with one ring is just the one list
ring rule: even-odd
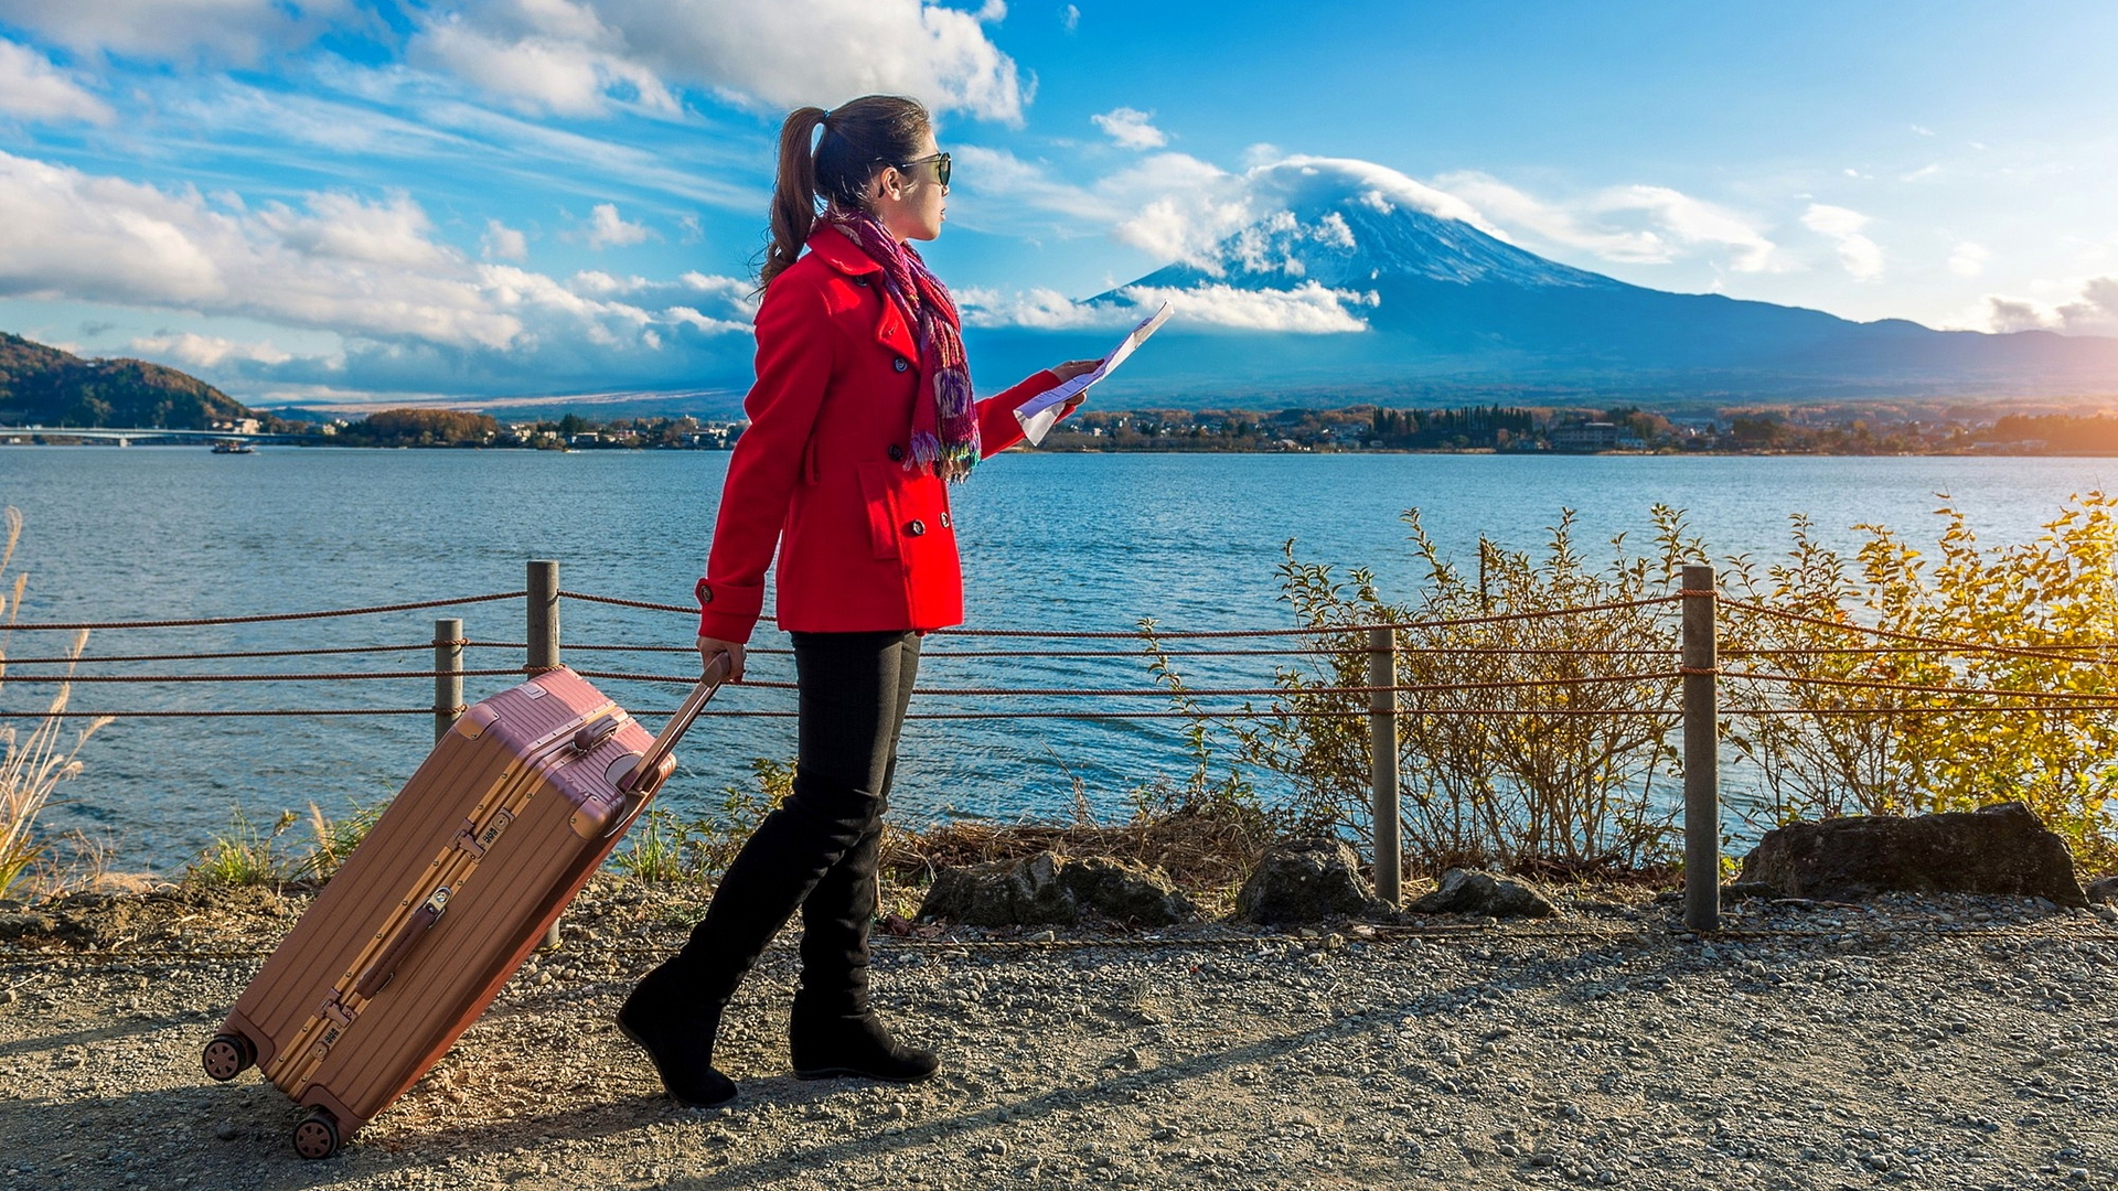
{"label": "thin flat white cloud band crossing the mountain just above the paper", "polygon": [[1125,286],[1110,299],[1093,303],[1072,301],[1057,290],[1042,288],[1015,295],[964,288],[957,299],[966,326],[1027,326],[1036,331],[1131,326],[1167,301],[1173,326],[1294,335],[1368,331],[1368,324],[1353,309],[1379,303],[1372,292],[1332,290],[1317,282],[1267,290],[1226,284]]}

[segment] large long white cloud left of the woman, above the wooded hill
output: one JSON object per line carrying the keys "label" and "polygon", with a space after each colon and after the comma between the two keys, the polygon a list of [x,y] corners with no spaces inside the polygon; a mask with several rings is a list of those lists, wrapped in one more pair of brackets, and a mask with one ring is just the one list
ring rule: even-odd
{"label": "large long white cloud left of the woman, above the wooded hill", "polygon": [[[0,153],[0,295],[72,299],[322,328],[407,356],[415,345],[530,352],[652,348],[682,318],[481,263],[434,239],[407,195],[311,193],[248,210]],[[701,278],[669,292],[722,295]],[[697,301],[697,299],[693,299]],[[214,345],[172,343],[169,350]],[[222,360],[235,360],[229,350]],[[258,358],[254,352],[248,358]]]}

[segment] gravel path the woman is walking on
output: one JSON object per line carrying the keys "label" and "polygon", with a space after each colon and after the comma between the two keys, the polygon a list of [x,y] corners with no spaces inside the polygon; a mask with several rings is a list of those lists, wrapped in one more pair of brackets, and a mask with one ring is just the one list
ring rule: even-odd
{"label": "gravel path the woman is walking on", "polygon": [[788,1074],[775,945],[724,1032],[743,1096],[693,1113],[610,1026],[693,907],[612,886],[303,1161],[277,1091],[197,1064],[301,905],[197,901],[0,916],[0,1185],[2118,1187],[2110,909],[1747,903],[1699,941],[1669,905],[1572,899],[1538,924],[883,939],[883,1013],[945,1051],[915,1087]]}

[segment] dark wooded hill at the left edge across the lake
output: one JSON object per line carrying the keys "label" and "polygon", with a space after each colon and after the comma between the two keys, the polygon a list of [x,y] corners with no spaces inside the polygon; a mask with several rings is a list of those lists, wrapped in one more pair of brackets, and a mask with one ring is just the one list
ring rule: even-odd
{"label": "dark wooded hill at the left edge across the lake", "polygon": [[235,417],[261,415],[176,369],[146,360],[83,360],[0,331],[0,424],[205,430]]}

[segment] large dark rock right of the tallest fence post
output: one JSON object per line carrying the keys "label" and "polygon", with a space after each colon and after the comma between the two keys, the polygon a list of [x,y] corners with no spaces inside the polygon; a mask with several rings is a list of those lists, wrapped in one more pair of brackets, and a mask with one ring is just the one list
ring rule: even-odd
{"label": "large dark rock right of the tallest fence post", "polygon": [[2067,841],[2023,803],[1919,818],[1792,822],[1743,856],[1745,882],[1849,901],[1885,890],[2042,896],[2088,905]]}

